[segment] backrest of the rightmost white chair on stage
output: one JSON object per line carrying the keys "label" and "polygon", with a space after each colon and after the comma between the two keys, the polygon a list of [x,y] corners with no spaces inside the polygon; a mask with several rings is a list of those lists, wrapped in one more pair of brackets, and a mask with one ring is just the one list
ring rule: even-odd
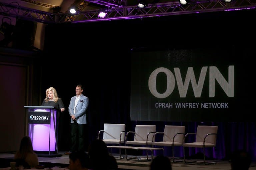
{"label": "backrest of the rightmost white chair on stage", "polygon": [[[218,126],[197,126],[196,142],[203,142],[206,134],[217,133],[217,132],[218,132]],[[214,145],[216,145],[216,138],[217,138],[217,135],[208,135],[205,139],[205,142],[213,143]]]}

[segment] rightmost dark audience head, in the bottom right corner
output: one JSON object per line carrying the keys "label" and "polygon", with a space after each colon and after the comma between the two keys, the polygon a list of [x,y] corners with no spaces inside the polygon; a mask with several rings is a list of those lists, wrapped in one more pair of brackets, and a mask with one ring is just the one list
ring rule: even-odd
{"label": "rightmost dark audience head, in the bottom right corner", "polygon": [[248,170],[251,164],[251,157],[243,150],[234,151],[230,159],[231,170]]}

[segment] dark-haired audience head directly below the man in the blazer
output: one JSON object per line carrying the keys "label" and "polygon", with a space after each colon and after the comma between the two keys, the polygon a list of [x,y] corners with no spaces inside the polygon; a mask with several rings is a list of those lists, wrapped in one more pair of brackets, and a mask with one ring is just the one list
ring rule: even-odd
{"label": "dark-haired audience head directly below the man in the blazer", "polygon": [[72,152],[69,155],[70,170],[87,170],[89,167],[89,156],[85,152]]}

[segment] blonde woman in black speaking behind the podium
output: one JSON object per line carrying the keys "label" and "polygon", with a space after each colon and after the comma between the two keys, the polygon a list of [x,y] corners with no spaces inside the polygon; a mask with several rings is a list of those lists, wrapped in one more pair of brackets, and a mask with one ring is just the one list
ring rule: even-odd
{"label": "blonde woman in black speaking behind the podium", "polygon": [[60,109],[61,112],[65,111],[64,104],[61,98],[58,98],[57,91],[53,87],[46,89],[46,96],[42,103],[42,106],[53,106],[57,109]]}

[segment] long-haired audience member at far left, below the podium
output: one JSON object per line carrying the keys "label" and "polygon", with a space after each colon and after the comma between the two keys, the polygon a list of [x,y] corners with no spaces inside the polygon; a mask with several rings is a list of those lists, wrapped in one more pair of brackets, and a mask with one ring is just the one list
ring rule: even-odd
{"label": "long-haired audience member at far left, below the podium", "polygon": [[[37,154],[33,151],[32,141],[29,136],[24,136],[20,142],[20,149],[14,155],[19,165],[25,168],[35,167],[39,164]],[[28,167],[30,166],[30,167]]]}

